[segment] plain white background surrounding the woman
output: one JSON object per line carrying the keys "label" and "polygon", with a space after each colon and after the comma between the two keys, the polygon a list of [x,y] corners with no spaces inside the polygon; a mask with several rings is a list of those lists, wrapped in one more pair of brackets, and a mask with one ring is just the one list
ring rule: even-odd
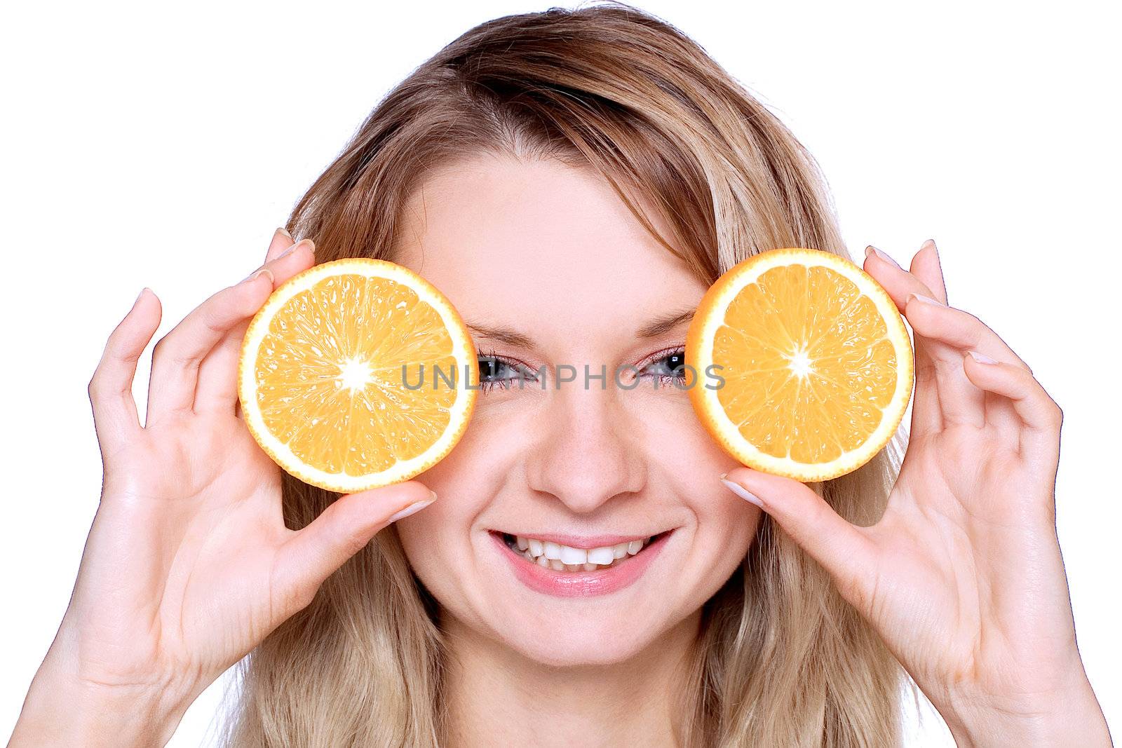
{"label": "plain white background surrounding the woman", "polygon": [[[696,38],[817,156],[858,260],[874,243],[907,267],[934,238],[950,303],[996,330],[1064,408],[1058,530],[1084,662],[1118,736],[1114,11],[637,3]],[[70,597],[100,489],[86,384],[137,293],[150,286],[164,304],[158,339],[259,265],[392,85],[475,24],[545,7],[7,3],[0,737]],[[146,354],[141,412],[148,366]],[[172,745],[210,745],[221,684]],[[909,745],[945,745],[938,718],[912,729]]]}

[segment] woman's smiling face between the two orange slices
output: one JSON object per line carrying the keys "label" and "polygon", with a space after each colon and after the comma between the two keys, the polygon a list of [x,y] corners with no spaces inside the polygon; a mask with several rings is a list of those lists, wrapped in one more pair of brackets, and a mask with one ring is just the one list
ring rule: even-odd
{"label": "woman's smiling face between the two orange slices", "polygon": [[417,478],[436,502],[397,525],[442,616],[552,665],[696,625],[760,520],[673,381],[705,284],[606,181],[558,161],[445,167],[404,218],[395,261],[499,359],[480,361],[491,384],[459,444]]}

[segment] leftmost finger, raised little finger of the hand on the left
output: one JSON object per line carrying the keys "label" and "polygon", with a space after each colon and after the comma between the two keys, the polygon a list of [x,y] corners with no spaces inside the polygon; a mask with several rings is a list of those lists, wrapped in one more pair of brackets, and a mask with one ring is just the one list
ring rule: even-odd
{"label": "leftmost finger, raised little finger of the hand on the left", "polygon": [[103,460],[140,432],[132,380],[140,354],[159,327],[159,299],[151,289],[144,288],[132,308],[110,333],[101,361],[90,379],[93,427]]}

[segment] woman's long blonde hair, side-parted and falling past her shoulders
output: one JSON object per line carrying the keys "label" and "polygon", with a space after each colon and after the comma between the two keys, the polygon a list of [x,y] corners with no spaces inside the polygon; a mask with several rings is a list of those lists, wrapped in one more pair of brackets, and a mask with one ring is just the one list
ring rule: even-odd
{"label": "woman's long blonde hair, side-parted and falling past her shoulders", "polygon": [[[848,252],[813,158],[669,24],[620,3],[481,24],[383,100],[293,211],[318,261],[393,256],[426,174],[482,151],[555,158],[607,178],[668,251],[707,283],[776,247]],[[641,206],[657,211],[660,237]],[[859,470],[810,484],[875,521],[900,436]],[[335,495],[285,475],[284,515],[309,524]],[[826,573],[767,518],[702,610],[688,746],[891,746],[902,671]],[[390,527],[241,663],[231,746],[439,745],[438,607]]]}

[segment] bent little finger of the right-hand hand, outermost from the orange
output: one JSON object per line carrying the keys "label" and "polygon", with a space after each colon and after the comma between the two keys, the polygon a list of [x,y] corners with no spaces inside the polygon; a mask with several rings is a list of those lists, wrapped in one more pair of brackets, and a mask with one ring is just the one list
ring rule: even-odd
{"label": "bent little finger of the right-hand hand, outermost from the orange", "polygon": [[1058,456],[1064,412],[1036,377],[977,351],[967,351],[963,367],[977,387],[1010,399],[1022,424],[1019,451],[1023,458],[1042,461]]}

